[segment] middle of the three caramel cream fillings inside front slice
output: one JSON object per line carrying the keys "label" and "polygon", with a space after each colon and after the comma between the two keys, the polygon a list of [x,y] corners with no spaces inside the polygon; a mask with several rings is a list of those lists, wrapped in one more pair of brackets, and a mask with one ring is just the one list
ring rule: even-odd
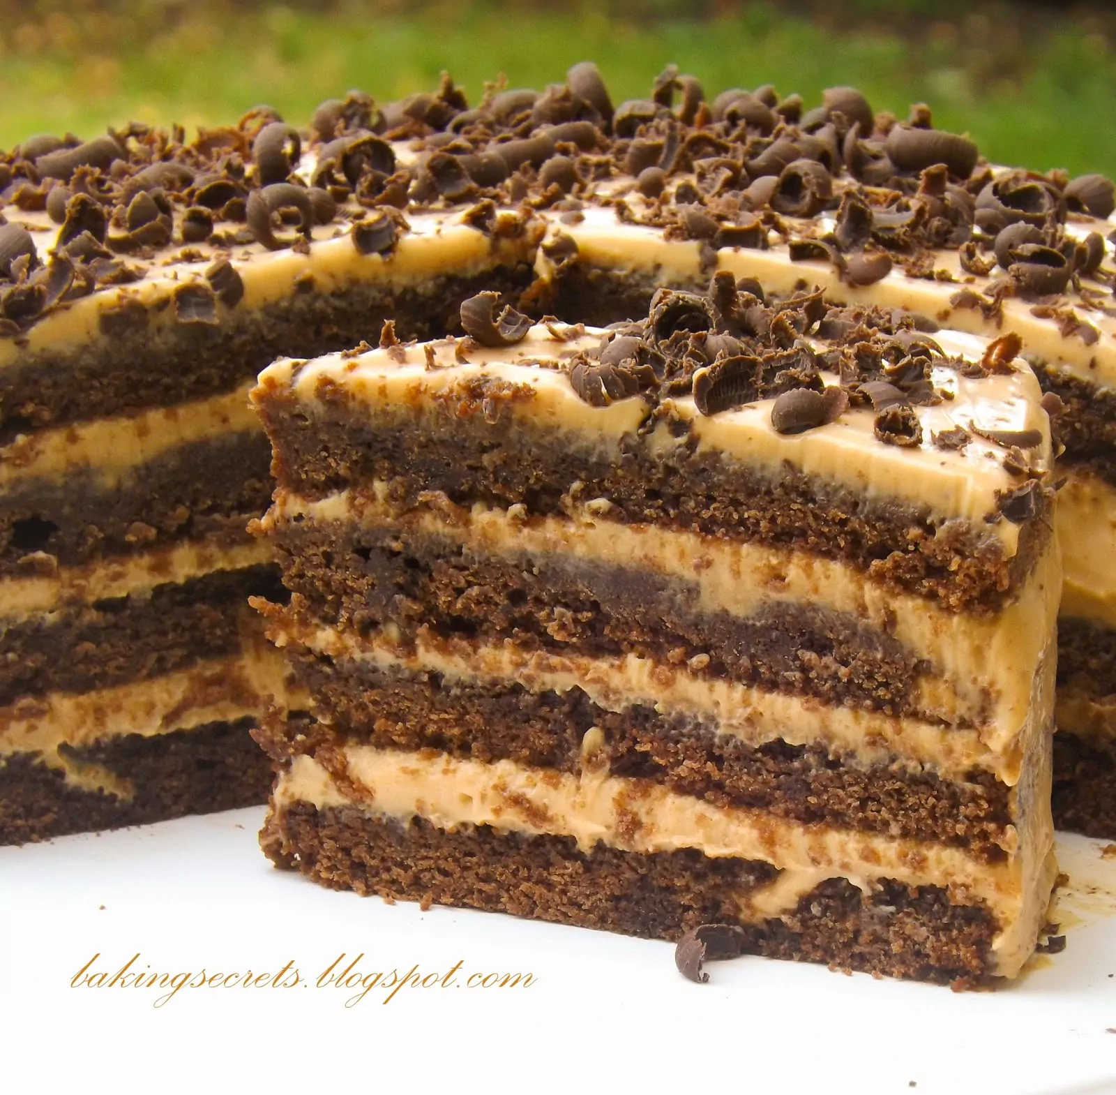
{"label": "middle of the three caramel cream fillings inside front slice", "polygon": [[422,633],[413,646],[404,647],[387,632],[364,638],[328,627],[300,627],[286,612],[272,617],[268,635],[280,649],[298,644],[338,662],[366,663],[385,671],[436,672],[446,681],[468,684],[517,681],[532,692],[581,689],[608,711],[646,704],[663,715],[711,723],[750,746],[780,740],[792,746],[820,745],[846,762],[855,758],[864,767],[898,763],[913,774],[930,770],[956,782],[964,782],[973,769],[984,769],[1008,786],[1017,786],[1027,758],[1045,746],[1054,703],[1054,657],[1046,657],[1032,681],[1027,722],[1016,739],[993,749],[979,730],[949,729],[918,719],[831,707],[812,697],[698,678],[684,666],[635,654],[610,659],[557,655],[525,651],[510,641],[487,645]]}

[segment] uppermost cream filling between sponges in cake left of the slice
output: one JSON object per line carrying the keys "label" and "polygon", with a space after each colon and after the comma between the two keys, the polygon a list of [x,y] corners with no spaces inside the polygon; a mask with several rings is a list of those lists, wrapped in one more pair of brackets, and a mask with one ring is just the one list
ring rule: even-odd
{"label": "uppermost cream filling between sponges in cake left of the slice", "polygon": [[110,490],[179,445],[257,433],[259,419],[248,401],[251,388],[248,383],[193,403],[21,434],[0,449],[0,490],[31,479],[65,481],[85,472],[94,472],[98,484]]}

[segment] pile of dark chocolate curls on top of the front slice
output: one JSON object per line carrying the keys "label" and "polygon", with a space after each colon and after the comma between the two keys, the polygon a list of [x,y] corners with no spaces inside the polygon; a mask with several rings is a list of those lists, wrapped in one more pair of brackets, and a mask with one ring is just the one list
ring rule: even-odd
{"label": "pile of dark chocolate curls on top of the front slice", "polygon": [[[490,315],[497,298],[487,296]],[[914,409],[955,397],[941,374],[935,381],[935,367],[969,378],[1011,374],[1020,348],[1009,334],[991,343],[979,362],[950,357],[903,313],[837,307],[818,291],[768,300],[753,282],[738,285],[719,271],[705,296],[658,290],[646,320],[618,326],[598,347],[578,350],[568,375],[575,393],[591,406],[692,395],[699,413],[711,416],[772,400],[772,429],[781,434],[870,407],[875,436],[908,448],[923,441]],[[978,432],[1006,448],[1041,443],[1037,430]],[[968,441],[963,430],[933,438],[946,450]]]}

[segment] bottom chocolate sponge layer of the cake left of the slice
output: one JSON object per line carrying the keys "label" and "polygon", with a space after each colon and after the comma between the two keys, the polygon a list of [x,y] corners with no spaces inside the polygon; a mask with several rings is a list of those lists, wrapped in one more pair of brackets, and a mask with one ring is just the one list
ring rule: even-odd
{"label": "bottom chocolate sponge layer of the cake left of the slice", "polygon": [[67,752],[127,780],[129,798],[67,784],[32,753],[0,758],[0,844],[263,803],[271,763],[249,734],[253,724],[241,719],[152,738],[126,734]]}

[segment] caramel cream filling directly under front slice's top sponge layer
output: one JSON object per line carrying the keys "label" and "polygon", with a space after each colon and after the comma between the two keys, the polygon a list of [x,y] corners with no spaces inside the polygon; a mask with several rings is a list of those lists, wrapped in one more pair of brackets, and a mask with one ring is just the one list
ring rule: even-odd
{"label": "caramel cream filling directly under front slice's top sponge layer", "polygon": [[371,492],[344,491],[321,501],[280,489],[262,528],[302,519],[411,528],[488,555],[554,555],[657,571],[692,587],[692,608],[700,613],[747,618],[769,604],[841,613],[930,662],[939,679],[924,678],[920,710],[951,724],[964,719],[982,726],[985,742],[997,751],[1014,740],[1028,718],[1032,681],[1058,609],[1061,570],[1055,544],[1016,602],[998,616],[968,616],[896,594],[853,567],[804,551],[610,521],[606,499],[571,508],[569,519],[526,518],[480,503],[469,511],[446,499],[436,509],[402,513],[387,501],[386,483],[371,487]]}

